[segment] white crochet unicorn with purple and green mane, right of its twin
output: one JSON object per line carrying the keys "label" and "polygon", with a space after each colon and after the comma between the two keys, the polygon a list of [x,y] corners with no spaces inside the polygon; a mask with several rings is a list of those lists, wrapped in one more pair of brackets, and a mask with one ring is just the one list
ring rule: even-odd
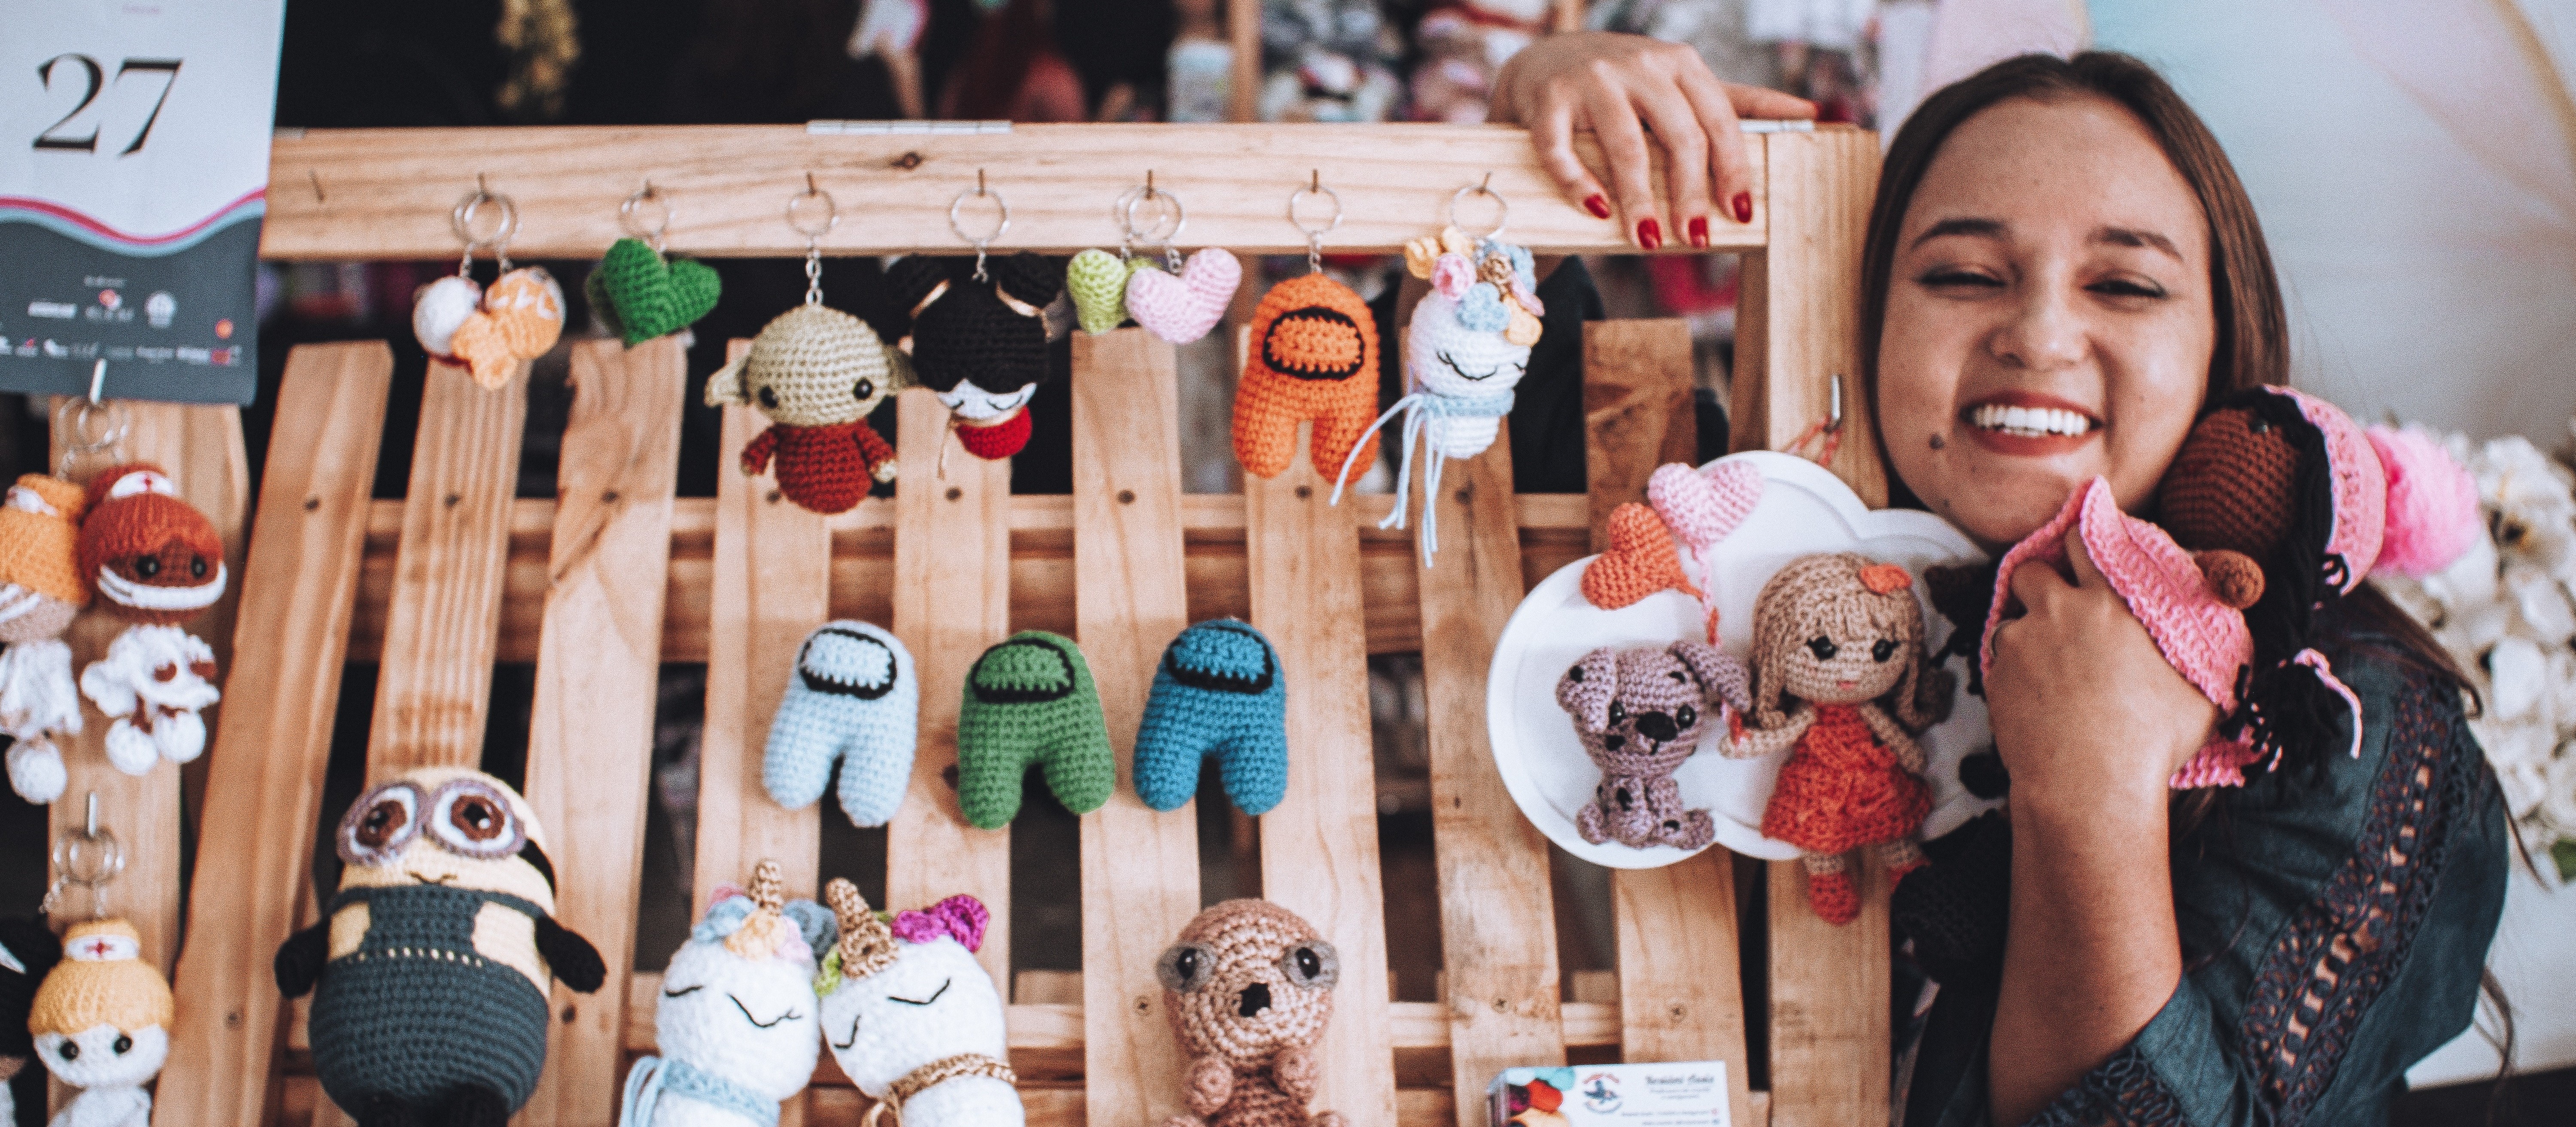
{"label": "white crochet unicorn with purple and green mane, right of its twin", "polygon": [[1002,1034],[1002,993],[976,965],[989,913],[974,895],[927,911],[868,911],[832,877],[822,898],[840,942],[822,957],[822,1037],[858,1091],[904,1127],[1023,1127],[1020,1078]]}

